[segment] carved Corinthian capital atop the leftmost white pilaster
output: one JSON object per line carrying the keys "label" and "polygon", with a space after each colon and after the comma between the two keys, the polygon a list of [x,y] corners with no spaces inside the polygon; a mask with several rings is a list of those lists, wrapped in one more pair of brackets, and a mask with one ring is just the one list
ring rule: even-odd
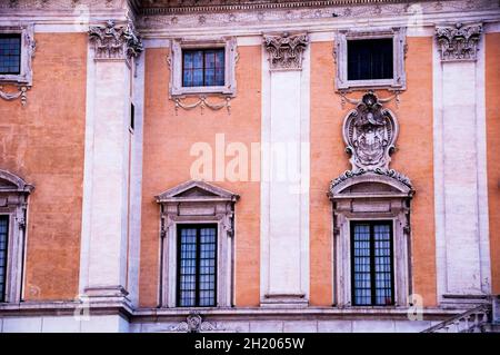
{"label": "carved Corinthian capital atop the leftmost white pilaster", "polygon": [[104,27],[91,27],[89,38],[94,46],[96,59],[137,58],[144,50],[132,21],[126,27],[117,27],[113,20],[108,20]]}

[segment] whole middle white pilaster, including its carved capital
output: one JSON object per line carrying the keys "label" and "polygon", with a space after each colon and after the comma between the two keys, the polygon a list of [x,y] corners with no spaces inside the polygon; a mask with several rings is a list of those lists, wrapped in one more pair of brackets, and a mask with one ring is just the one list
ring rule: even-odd
{"label": "whole middle white pilaster, including its carved capital", "polygon": [[[306,33],[264,36],[269,55],[262,305],[307,305],[309,283],[309,55]],[[304,80],[306,79],[306,80]],[[306,88],[307,87],[307,88]]]}

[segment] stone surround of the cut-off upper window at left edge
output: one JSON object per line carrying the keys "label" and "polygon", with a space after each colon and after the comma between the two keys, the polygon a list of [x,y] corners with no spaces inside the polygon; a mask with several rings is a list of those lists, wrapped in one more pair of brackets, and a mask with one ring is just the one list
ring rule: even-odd
{"label": "stone surround of the cut-off upper window at left edge", "polygon": [[34,50],[33,24],[0,27],[2,34],[21,34],[21,67],[18,75],[0,75],[1,83],[14,83],[31,87],[31,60]]}

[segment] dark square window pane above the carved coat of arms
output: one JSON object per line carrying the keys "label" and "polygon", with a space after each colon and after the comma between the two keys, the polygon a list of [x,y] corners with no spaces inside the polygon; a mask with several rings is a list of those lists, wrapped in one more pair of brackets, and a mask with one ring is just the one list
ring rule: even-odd
{"label": "dark square window pane above the carved coat of arms", "polygon": [[393,78],[391,38],[348,41],[348,79],[374,80]]}

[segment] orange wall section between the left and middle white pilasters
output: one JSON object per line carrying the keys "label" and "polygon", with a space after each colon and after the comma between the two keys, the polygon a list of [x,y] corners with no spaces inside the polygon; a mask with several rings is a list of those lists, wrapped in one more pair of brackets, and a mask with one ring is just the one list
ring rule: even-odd
{"label": "orange wall section between the left and middle white pilasters", "polygon": [[[140,304],[157,306],[159,279],[159,206],[154,196],[190,179],[191,145],[209,142],[226,134],[226,144],[260,142],[261,47],[239,47],[238,96],[226,110],[179,110],[169,100],[168,49],[146,51],[146,108],[143,138],[142,236]],[[220,99],[213,99],[214,101]],[[212,148],[214,150],[214,148]],[[227,159],[229,161],[230,159]],[[260,285],[260,183],[214,181],[241,196],[236,205],[236,302],[259,305]]]}

